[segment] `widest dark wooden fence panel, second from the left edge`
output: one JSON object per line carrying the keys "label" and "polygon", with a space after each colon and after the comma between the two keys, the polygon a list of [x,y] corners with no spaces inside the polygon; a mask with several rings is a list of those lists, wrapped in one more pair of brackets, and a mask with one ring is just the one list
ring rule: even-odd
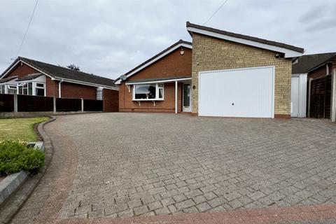
{"label": "widest dark wooden fence panel, second from the left edge", "polygon": [[18,112],[43,112],[53,110],[52,97],[18,94]]}

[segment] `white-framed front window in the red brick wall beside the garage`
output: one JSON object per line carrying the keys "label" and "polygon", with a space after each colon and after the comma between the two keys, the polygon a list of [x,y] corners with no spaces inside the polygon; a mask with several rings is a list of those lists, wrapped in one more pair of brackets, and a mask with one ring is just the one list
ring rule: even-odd
{"label": "white-framed front window in the red brick wall beside the garage", "polygon": [[141,84],[133,87],[133,100],[162,100],[164,99],[164,84]]}

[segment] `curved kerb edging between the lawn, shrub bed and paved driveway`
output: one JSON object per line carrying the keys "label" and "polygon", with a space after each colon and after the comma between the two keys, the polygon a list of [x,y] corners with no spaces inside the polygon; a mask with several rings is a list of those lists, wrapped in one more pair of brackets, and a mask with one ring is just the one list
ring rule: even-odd
{"label": "curved kerb edging between the lawn, shrub bed and paved driveway", "polygon": [[[50,137],[45,133],[44,131],[44,125],[51,123],[52,121],[56,120],[55,117],[49,116],[50,120],[46,120],[43,123],[38,124],[37,127],[37,134],[40,135],[43,139],[43,145],[44,145],[44,153],[45,153],[45,164],[41,172],[35,176],[31,176],[29,178],[28,175],[26,176],[27,181],[23,183],[22,186],[18,188],[16,193],[11,195],[11,197],[8,198],[8,200],[1,204],[0,208],[0,223],[10,223],[12,218],[15,216],[15,214],[18,213],[18,211],[21,209],[23,204],[27,201],[31,193],[33,193],[34,189],[38,185],[38,183],[41,181],[42,177],[45,174],[45,171],[48,169],[50,162],[52,160],[53,155],[53,146],[52,142],[50,140]],[[20,173],[20,172],[19,172]],[[17,173],[17,174],[19,174]],[[1,181],[2,182],[2,181]]]}

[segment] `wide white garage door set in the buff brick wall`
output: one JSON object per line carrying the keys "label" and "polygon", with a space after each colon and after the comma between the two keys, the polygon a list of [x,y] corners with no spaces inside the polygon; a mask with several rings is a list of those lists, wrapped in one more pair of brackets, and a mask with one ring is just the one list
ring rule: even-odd
{"label": "wide white garage door set in the buff brick wall", "polygon": [[203,71],[200,116],[274,118],[274,66]]}

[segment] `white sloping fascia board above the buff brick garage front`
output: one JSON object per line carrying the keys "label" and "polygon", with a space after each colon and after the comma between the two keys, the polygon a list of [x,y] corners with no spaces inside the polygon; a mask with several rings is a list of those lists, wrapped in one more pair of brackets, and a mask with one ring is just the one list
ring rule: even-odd
{"label": "white sloping fascia board above the buff brick garage front", "polygon": [[265,44],[265,43],[259,43],[259,42],[256,42],[256,41],[250,41],[250,40],[246,40],[246,39],[243,39],[243,38],[237,38],[237,37],[234,37],[234,36],[228,36],[228,35],[224,35],[224,34],[217,34],[215,32],[207,31],[207,30],[204,30],[204,29],[197,29],[195,27],[187,27],[187,30],[190,31],[190,32],[195,32],[197,34],[204,34],[204,35],[207,35],[207,36],[214,36],[216,38],[221,38],[221,39],[227,40],[227,41],[233,41],[233,42],[236,42],[236,43],[242,43],[242,44],[245,44],[245,45],[251,45],[251,46],[256,47],[256,48],[262,48],[262,49],[266,49],[266,50],[272,50],[272,51],[275,51],[275,52],[281,52],[281,53],[283,53],[285,55],[285,58],[288,58],[288,57],[300,57],[302,55],[302,53],[297,52],[295,50],[289,50],[287,48],[281,48],[281,47],[274,46],[274,45],[268,45],[268,44]]}

